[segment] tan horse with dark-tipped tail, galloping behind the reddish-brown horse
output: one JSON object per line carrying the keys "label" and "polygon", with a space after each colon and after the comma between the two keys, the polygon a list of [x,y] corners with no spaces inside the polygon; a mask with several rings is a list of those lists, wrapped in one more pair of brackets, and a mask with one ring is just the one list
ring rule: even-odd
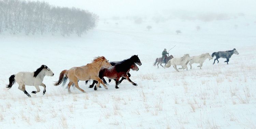
{"label": "tan horse with dark-tipped tail, galloping behind the reddish-brown horse", "polygon": [[63,70],[60,73],[59,80],[54,85],[60,85],[63,81],[64,76],[66,76],[69,79],[68,83],[68,91],[70,93],[70,86],[74,83],[75,87],[79,89],[81,92],[85,93],[83,89],[81,89],[78,86],[78,81],[87,81],[87,80],[96,80],[99,83],[97,84],[97,88],[99,87],[100,83],[103,84],[105,89],[108,89],[108,87],[101,81],[99,78],[99,71],[101,68],[110,68],[111,64],[108,60],[106,60],[105,57],[97,57],[93,60],[92,63],[89,63],[87,65],[81,66],[81,67],[73,67],[69,70]]}

